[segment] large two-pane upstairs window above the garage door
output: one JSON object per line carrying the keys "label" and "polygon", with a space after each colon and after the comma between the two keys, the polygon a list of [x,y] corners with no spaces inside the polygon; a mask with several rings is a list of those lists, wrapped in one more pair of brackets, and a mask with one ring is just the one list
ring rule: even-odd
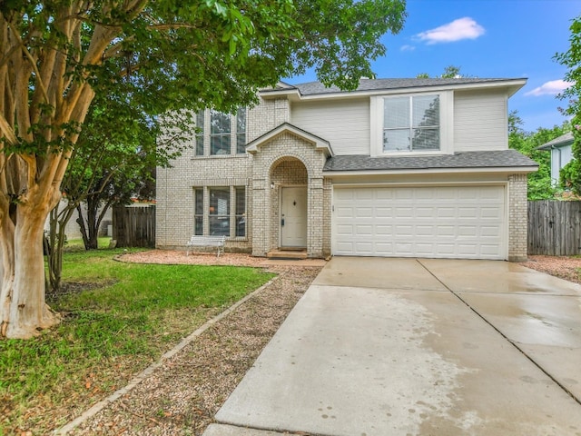
{"label": "large two-pane upstairs window above the garage door", "polygon": [[383,99],[383,152],[440,149],[439,95]]}

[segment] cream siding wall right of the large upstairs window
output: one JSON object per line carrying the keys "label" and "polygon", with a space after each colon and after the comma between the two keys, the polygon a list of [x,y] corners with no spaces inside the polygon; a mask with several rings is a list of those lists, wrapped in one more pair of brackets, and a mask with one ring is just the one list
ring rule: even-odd
{"label": "cream siding wall right of the large upstairs window", "polygon": [[506,150],[507,95],[454,93],[454,151]]}

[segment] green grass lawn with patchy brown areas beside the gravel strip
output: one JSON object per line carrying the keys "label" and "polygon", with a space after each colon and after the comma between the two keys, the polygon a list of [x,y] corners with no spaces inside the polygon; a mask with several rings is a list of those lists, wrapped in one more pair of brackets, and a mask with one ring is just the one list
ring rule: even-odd
{"label": "green grass lawn with patchy brown areas beside the gravel strip", "polygon": [[61,324],[32,340],[0,341],[0,435],[63,425],[273,275],[114,261],[120,253],[68,245],[66,292],[48,297]]}

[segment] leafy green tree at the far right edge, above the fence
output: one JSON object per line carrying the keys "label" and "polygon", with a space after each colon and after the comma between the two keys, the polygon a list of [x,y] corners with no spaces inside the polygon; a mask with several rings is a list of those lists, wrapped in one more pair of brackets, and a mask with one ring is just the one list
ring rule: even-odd
{"label": "leafy green tree at the far right edge, above the fence", "polygon": [[569,87],[559,95],[566,99],[568,106],[563,113],[571,116],[573,125],[573,157],[574,159],[563,168],[561,182],[566,184],[577,195],[581,195],[581,15],[572,20],[569,27],[569,49],[565,53],[557,53],[555,60],[567,67],[565,74]]}

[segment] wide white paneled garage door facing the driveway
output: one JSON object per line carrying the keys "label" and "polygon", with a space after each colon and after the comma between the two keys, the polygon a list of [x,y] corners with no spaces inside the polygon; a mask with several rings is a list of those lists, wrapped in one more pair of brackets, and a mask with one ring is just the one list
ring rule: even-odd
{"label": "wide white paneled garage door facing the driveway", "polygon": [[505,259],[503,186],[339,188],[337,255]]}

